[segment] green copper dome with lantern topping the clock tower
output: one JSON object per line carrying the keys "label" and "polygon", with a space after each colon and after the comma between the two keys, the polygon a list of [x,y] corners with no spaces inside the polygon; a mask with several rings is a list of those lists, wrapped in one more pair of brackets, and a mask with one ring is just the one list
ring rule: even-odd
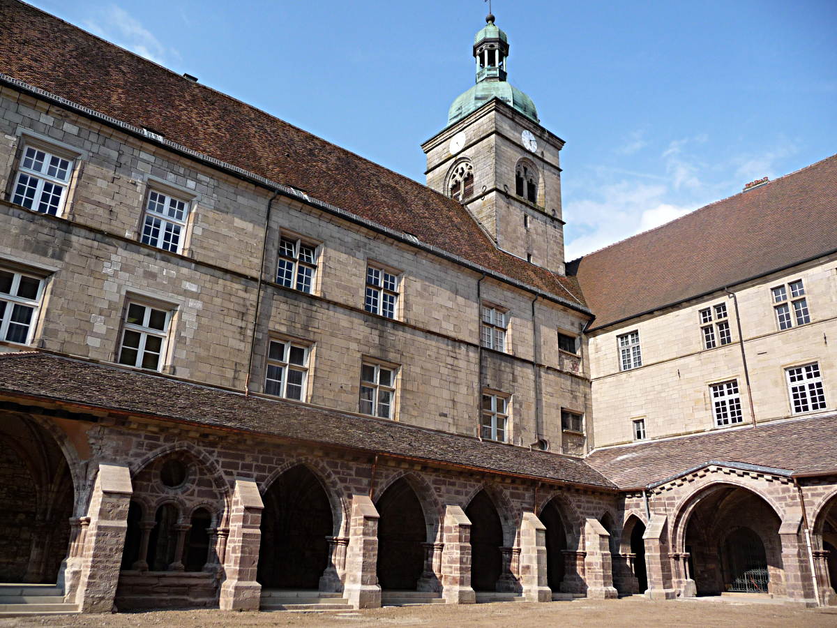
{"label": "green copper dome with lantern topping the clock tower", "polygon": [[509,55],[506,33],[496,27],[493,15],[489,14],[485,22],[485,28],[474,37],[476,85],[454,100],[448,111],[448,124],[461,120],[495,98],[532,121],[540,122],[531,98],[506,80],[506,58]]}

